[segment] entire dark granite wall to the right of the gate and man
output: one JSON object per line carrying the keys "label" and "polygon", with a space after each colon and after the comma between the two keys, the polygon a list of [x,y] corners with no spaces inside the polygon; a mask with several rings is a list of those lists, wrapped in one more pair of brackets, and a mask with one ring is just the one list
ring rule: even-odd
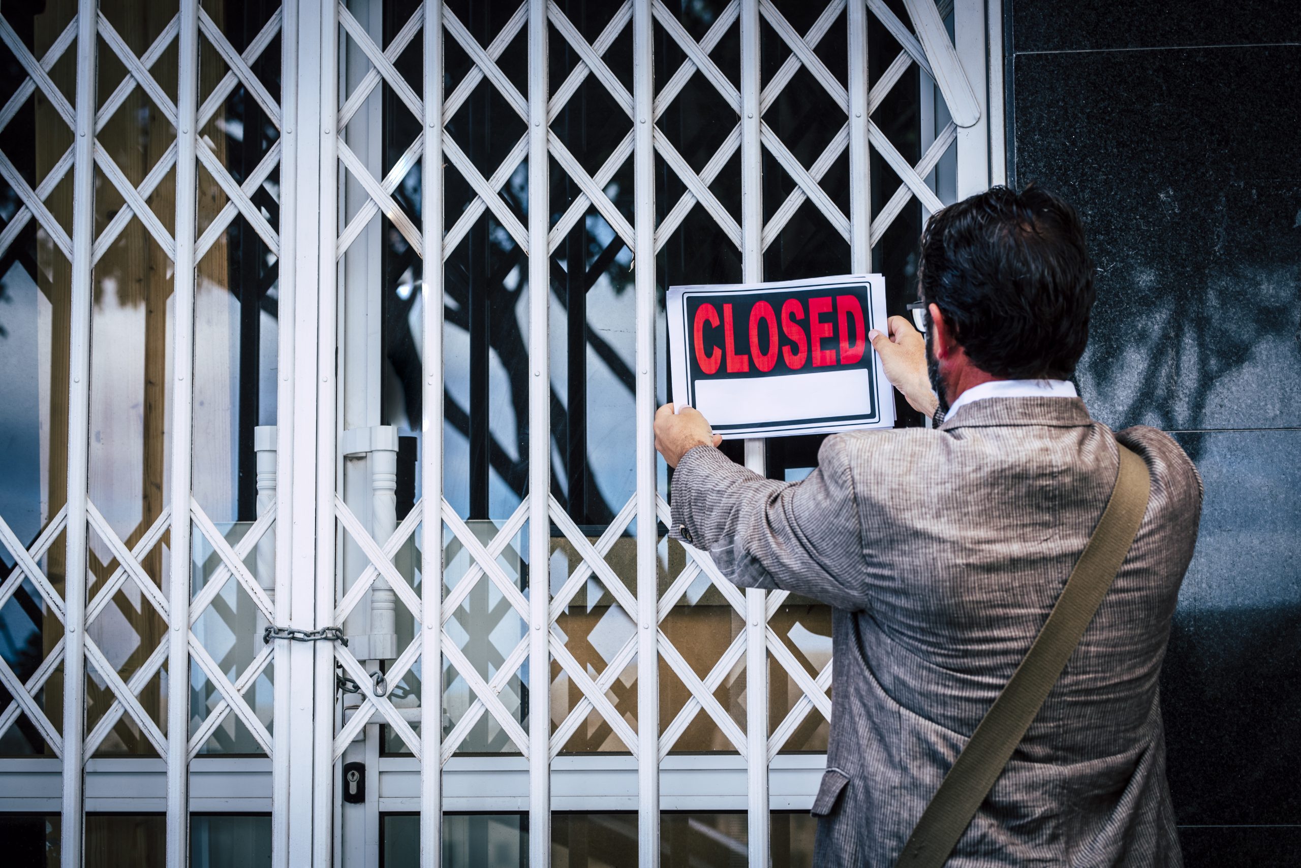
{"label": "entire dark granite wall to the right of the gate and man", "polygon": [[1098,265],[1080,390],[1206,486],[1162,676],[1185,864],[1301,865],[1301,3],[1004,12],[1010,174]]}

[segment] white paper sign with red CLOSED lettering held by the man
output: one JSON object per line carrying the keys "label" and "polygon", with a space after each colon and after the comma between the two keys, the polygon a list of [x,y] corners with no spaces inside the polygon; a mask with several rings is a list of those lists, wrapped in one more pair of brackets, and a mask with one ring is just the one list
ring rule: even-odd
{"label": "white paper sign with red CLOSED lettering held by the man", "polygon": [[847,274],[669,288],[673,399],[723,438],[894,426],[894,392],[868,331],[886,283]]}

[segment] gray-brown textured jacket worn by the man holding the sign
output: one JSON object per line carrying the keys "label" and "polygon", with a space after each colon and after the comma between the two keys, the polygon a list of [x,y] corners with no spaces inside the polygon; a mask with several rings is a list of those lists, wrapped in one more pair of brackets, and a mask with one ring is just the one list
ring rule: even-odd
{"label": "gray-brown textured jacket worn by the man holding the sign", "polygon": [[894,864],[1084,550],[1118,437],[1151,472],[1142,526],[948,864],[1180,865],[1158,676],[1201,479],[1168,435],[1114,435],[1079,399],[994,398],[939,430],[830,437],[795,485],[683,457],[675,537],[738,585],[834,607],[814,865]]}

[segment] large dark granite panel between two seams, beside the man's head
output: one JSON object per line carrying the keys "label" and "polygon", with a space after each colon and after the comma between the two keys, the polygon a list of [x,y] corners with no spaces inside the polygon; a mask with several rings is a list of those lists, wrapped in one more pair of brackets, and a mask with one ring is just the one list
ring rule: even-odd
{"label": "large dark granite panel between two seams, beside the man's head", "polygon": [[1099,270],[1079,370],[1094,416],[1301,425],[1301,45],[1013,66],[1016,182],[1080,208]]}

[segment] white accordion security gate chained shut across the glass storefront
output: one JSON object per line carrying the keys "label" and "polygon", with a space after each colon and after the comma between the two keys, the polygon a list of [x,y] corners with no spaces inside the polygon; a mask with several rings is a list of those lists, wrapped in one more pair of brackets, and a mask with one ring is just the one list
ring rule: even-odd
{"label": "white accordion security gate chained shut across the glass storefront", "polygon": [[[414,815],[409,850],[437,865],[461,858],[445,815],[510,813],[519,864],[545,865],[553,812],[635,812],[654,865],[661,812],[731,811],[727,846],[770,864],[770,811],[807,811],[820,780],[817,741],[791,739],[830,716],[831,664],[799,659],[786,594],[666,541],[660,299],[703,226],[734,279],[773,278],[799,221],[843,248],[824,273],[868,272],[900,214],[1002,181],[999,4],[177,0],[139,29],[122,4],[49,5],[57,26],[0,10],[21,68],[0,134],[31,112],[60,143],[29,168],[0,142],[0,256],[33,273],[52,335],[40,400],[66,394],[39,521],[0,507],[0,611],[30,599],[44,625],[30,670],[0,661],[0,738],[39,745],[0,759],[0,811],[57,816],[65,865],[111,812],[163,817],[169,865],[202,862],[200,815],[269,815],[277,865],[376,864],[385,817]],[[690,153],[679,97],[717,109]],[[790,99],[824,107],[816,152],[788,144]],[[916,107],[915,157],[882,129],[890,99]],[[114,126],[137,122],[124,105],[156,151]],[[484,117],[506,118],[501,147]],[[613,125],[609,147],[580,147],[583,123]],[[131,268],[165,275],[157,298],[101,312]],[[118,508],[98,495],[121,463],[101,407],[129,396],[134,333],[113,329],[137,322],[146,494]],[[239,377],[260,404],[230,403]],[[589,466],[593,418],[614,420],[615,470]],[[764,443],[744,460],[764,470]],[[703,651],[673,624],[706,598],[734,626]],[[189,689],[167,690],[178,672]]]}

